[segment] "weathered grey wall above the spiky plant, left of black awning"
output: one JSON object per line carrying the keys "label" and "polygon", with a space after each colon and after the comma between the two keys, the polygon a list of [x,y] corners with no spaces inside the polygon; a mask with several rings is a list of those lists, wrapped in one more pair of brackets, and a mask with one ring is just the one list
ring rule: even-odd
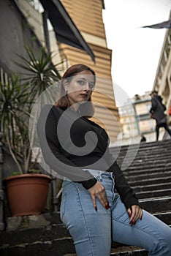
{"label": "weathered grey wall above the spiky plant, left of black awning", "polygon": [[26,57],[26,46],[39,53],[40,43],[14,1],[0,1],[0,67],[4,72],[20,72],[13,62],[20,60],[16,53]]}

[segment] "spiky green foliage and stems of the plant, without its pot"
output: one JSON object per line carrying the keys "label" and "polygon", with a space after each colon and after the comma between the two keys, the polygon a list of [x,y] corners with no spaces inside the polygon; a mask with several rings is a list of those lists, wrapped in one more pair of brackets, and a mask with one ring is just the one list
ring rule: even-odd
{"label": "spiky green foliage and stems of the plant, without its pot", "polygon": [[51,61],[51,53],[47,55],[43,48],[38,57],[31,48],[26,48],[26,53],[28,58],[19,56],[20,62],[16,64],[27,72],[6,76],[6,79],[1,74],[0,82],[2,139],[20,173],[27,173],[31,168],[28,122],[32,106],[47,87],[61,79]]}

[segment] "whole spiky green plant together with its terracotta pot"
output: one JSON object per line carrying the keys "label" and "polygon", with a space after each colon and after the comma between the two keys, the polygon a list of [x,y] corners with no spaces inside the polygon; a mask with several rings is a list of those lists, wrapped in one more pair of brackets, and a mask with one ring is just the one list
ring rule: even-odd
{"label": "whole spiky green plant together with its terracotta pot", "polygon": [[38,58],[31,48],[26,48],[26,53],[28,58],[19,56],[22,63],[17,63],[26,71],[24,76],[1,75],[0,83],[2,142],[19,173],[4,179],[12,217],[40,214],[46,206],[51,178],[39,173],[37,158],[33,160],[28,122],[37,97],[61,78],[51,61],[51,53],[47,55],[44,48]]}

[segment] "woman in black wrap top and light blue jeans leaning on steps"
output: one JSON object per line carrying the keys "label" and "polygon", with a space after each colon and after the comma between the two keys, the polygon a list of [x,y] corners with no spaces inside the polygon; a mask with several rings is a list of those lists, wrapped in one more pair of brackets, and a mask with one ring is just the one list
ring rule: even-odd
{"label": "woman in black wrap top and light blue jeans leaning on steps", "polygon": [[[47,165],[64,176],[61,220],[77,256],[109,256],[111,240],[171,255],[171,230],[142,210],[110,154],[109,138],[89,119],[95,72],[83,64],[66,70],[61,97],[45,105],[38,135]],[[114,192],[117,189],[117,193]]]}

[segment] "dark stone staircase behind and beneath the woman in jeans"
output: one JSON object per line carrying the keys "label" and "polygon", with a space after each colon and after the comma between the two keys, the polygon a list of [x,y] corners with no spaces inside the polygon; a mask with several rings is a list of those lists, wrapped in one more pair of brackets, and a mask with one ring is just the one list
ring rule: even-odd
{"label": "dark stone staircase behind and beneath the woman in jeans", "polygon": [[[115,155],[118,148],[111,148],[111,151]],[[126,154],[129,156],[127,160]],[[131,165],[125,168],[132,158]],[[171,140],[141,143],[138,150],[137,145],[131,146],[129,151],[128,146],[122,146],[117,161],[125,169],[123,173],[142,207],[171,227]],[[72,238],[61,223],[59,213],[43,214],[44,226],[42,222],[36,224],[40,217],[18,218],[20,225],[17,230],[8,227],[0,233],[1,256],[76,256]],[[19,222],[18,218],[12,218],[12,222]],[[32,225],[26,228],[26,222]],[[148,252],[113,242],[112,255],[137,256],[148,255]]]}

